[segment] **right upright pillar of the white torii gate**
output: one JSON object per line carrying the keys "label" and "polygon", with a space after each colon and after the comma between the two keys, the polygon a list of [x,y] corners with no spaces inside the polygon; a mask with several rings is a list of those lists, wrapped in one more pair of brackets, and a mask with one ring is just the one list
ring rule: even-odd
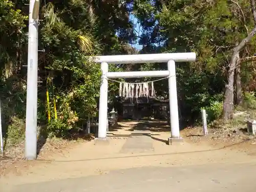
{"label": "right upright pillar of the white torii gate", "polygon": [[169,60],[167,63],[170,77],[168,78],[169,86],[169,105],[170,105],[170,132],[173,139],[180,138],[177,86],[176,86],[176,70],[175,61]]}

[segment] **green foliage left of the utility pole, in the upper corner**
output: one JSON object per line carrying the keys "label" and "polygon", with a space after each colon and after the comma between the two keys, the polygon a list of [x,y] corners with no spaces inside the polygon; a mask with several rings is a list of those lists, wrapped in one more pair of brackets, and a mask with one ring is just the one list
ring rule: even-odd
{"label": "green foliage left of the utility pole, in the upper corner", "polygon": [[15,63],[20,58],[22,44],[26,41],[23,30],[28,16],[9,0],[0,1],[0,80],[4,81],[13,74]]}

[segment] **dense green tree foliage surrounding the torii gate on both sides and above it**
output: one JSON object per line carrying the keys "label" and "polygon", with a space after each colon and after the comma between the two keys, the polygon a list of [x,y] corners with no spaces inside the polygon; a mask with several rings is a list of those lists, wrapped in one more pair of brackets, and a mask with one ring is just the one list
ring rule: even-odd
{"label": "dense green tree foliage surrounding the torii gate on both sides and above it", "polygon": [[[27,2],[26,2],[27,3]],[[0,1],[0,91],[4,127],[9,137],[24,135],[26,111],[27,22],[25,1]],[[253,27],[248,1],[45,1],[41,3],[39,25],[38,125],[48,126],[51,136],[65,137],[81,129],[97,115],[100,65],[87,56],[138,53],[197,52],[196,62],[176,63],[180,116],[185,123],[221,116],[226,70],[234,46]],[[242,11],[243,13],[242,13]],[[129,19],[140,23],[135,34]],[[138,41],[143,49],[130,46]],[[255,39],[240,57],[255,52]],[[254,62],[241,63],[244,90],[255,90]],[[110,65],[110,71],[166,70],[166,63]],[[147,81],[152,78],[130,79]],[[124,79],[121,79],[124,80]],[[126,80],[127,81],[127,80]],[[158,96],[168,97],[167,80],[157,81]],[[119,84],[109,82],[109,100],[114,102]],[[50,95],[48,123],[46,90]],[[245,92],[248,108],[256,108],[255,96]],[[54,117],[56,99],[57,119]],[[23,137],[22,137],[23,138]]]}

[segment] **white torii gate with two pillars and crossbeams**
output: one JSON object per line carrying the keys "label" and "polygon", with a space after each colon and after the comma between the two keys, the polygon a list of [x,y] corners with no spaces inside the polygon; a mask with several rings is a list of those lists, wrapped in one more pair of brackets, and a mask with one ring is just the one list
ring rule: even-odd
{"label": "white torii gate with two pillars and crossbeams", "polygon": [[[99,97],[99,124],[97,140],[106,140],[106,127],[108,116],[108,78],[139,78],[139,77],[168,77],[169,105],[170,105],[170,132],[168,143],[180,141],[180,127],[176,87],[175,62],[195,61],[196,53],[161,53],[141,55],[108,55],[91,57],[96,63],[101,63],[102,83]],[[109,72],[108,63],[147,63],[167,62],[167,71],[134,71]]]}

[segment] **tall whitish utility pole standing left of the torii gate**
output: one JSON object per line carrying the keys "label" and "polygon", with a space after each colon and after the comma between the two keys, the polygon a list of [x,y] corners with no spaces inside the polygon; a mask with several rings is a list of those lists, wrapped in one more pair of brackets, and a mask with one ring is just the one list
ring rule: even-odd
{"label": "tall whitish utility pole standing left of the torii gate", "polygon": [[38,23],[32,18],[35,0],[29,3],[28,78],[25,157],[36,159]]}

